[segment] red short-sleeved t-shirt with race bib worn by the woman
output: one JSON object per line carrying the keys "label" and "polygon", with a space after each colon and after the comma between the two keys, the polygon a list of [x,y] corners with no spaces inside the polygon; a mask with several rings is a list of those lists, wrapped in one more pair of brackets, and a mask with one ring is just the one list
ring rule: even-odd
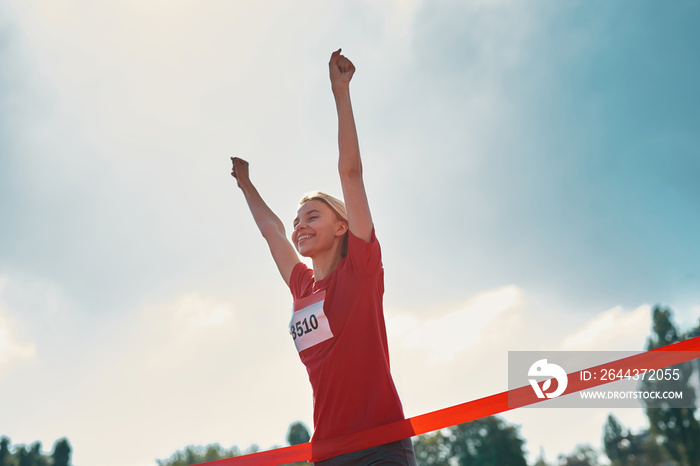
{"label": "red short-sleeved t-shirt with race bib worn by the woman", "polygon": [[404,419],[389,371],[379,242],[349,233],[348,254],[314,281],[304,263],[292,270],[290,334],[314,396],[314,440]]}

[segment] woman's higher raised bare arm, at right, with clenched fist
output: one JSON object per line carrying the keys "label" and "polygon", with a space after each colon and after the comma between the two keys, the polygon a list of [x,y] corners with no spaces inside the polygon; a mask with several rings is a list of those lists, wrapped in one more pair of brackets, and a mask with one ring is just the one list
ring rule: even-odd
{"label": "woman's higher raised bare arm, at right, with clenched fist", "polygon": [[353,235],[369,241],[372,238],[372,214],[362,179],[360,145],[350,103],[350,80],[355,73],[355,65],[338,49],[331,55],[328,67],[338,112],[338,173],[348,212],[348,227]]}

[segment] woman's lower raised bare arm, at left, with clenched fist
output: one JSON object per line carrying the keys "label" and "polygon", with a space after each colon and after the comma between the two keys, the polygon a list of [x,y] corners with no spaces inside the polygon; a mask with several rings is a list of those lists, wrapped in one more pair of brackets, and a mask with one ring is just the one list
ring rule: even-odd
{"label": "woman's lower raised bare arm, at left, with clenched fist", "polygon": [[248,162],[238,157],[231,157],[231,162],[233,162],[231,175],[238,181],[238,187],[243,191],[250,213],[253,214],[253,219],[258,225],[260,233],[267,241],[277,269],[279,269],[284,282],[289,286],[289,278],[292,275],[292,269],[299,262],[299,256],[297,256],[292,243],[287,239],[284,224],[268,207],[250,181]]}

